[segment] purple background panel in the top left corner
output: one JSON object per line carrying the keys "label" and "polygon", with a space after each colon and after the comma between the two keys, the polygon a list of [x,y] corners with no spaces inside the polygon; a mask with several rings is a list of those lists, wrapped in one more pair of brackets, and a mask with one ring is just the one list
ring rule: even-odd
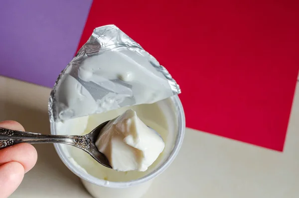
{"label": "purple background panel in the top left corner", "polygon": [[0,2],[0,75],[52,87],[76,53],[92,0]]}

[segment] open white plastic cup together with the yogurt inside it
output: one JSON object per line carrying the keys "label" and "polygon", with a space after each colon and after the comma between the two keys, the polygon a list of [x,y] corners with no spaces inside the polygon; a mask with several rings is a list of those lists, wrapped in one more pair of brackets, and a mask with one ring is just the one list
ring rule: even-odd
{"label": "open white plastic cup together with the yogurt inside it", "polygon": [[129,108],[135,110],[146,125],[159,132],[165,142],[163,152],[145,172],[118,172],[100,165],[80,149],[55,144],[61,160],[81,178],[86,189],[95,198],[141,198],[148,191],[153,179],[167,169],[177,155],[184,136],[185,119],[178,97],[174,96],[154,104],[124,107],[63,123],[51,123],[51,134],[84,135]]}

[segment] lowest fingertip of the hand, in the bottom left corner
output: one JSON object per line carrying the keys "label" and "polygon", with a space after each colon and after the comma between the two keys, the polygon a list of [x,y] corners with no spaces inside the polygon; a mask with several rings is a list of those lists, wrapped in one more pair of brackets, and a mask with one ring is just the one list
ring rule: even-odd
{"label": "lowest fingertip of the hand, in the bottom left corner", "polygon": [[0,198],[8,198],[20,185],[24,168],[18,162],[8,162],[0,166]]}

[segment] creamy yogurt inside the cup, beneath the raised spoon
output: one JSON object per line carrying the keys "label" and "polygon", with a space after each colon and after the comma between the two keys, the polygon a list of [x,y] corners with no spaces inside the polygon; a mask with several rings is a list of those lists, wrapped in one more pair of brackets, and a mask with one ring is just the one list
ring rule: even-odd
{"label": "creamy yogurt inside the cup, beneath the raised spoon", "polygon": [[[75,119],[70,119],[64,122],[56,123],[56,130],[59,134],[69,134],[69,135],[86,135],[90,133],[98,125],[112,120],[119,115],[122,115],[128,109],[133,109],[137,112],[138,117],[150,128],[155,130],[162,137],[165,147],[158,158],[149,166],[148,170],[145,172],[140,171],[128,171],[120,172],[113,169],[104,167],[95,161],[89,154],[80,150],[76,147],[69,145],[58,145],[65,152],[66,157],[78,170],[84,169],[89,175],[93,177],[107,180],[110,182],[126,182],[137,180],[142,178],[152,171],[156,167],[160,166],[169,155],[173,148],[175,134],[173,131],[176,130],[175,125],[173,125],[173,120],[175,115],[173,111],[170,110],[168,106],[168,99],[159,101],[153,104],[142,104],[131,107],[123,107],[120,109],[112,110],[106,113],[94,114],[86,117],[80,117]],[[169,111],[167,110],[169,108]],[[84,171],[84,172],[85,172]]]}

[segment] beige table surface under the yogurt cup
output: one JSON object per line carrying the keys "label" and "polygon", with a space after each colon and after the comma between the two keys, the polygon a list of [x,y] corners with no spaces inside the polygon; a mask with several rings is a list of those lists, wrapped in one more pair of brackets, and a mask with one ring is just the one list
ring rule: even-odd
{"label": "beige table surface under the yogurt cup", "polygon": [[[0,120],[49,133],[50,89],[0,76]],[[91,198],[53,145],[11,198]],[[186,129],[182,149],[144,198],[299,198],[299,86],[283,153]]]}

